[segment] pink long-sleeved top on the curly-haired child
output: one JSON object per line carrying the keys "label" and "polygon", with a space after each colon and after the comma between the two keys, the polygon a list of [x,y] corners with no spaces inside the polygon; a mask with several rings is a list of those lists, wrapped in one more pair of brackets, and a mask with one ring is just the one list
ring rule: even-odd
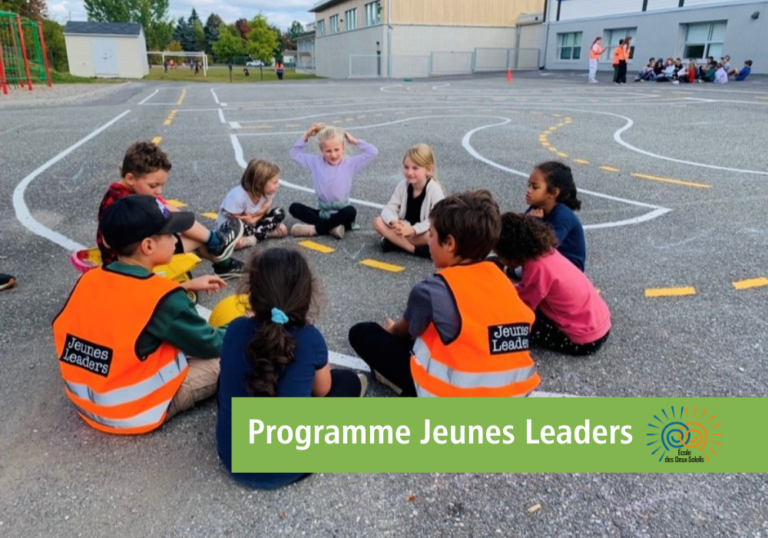
{"label": "pink long-sleeved top on the curly-haired child", "polygon": [[531,310],[541,311],[575,344],[599,340],[611,328],[608,305],[587,276],[556,250],[525,263],[515,287]]}

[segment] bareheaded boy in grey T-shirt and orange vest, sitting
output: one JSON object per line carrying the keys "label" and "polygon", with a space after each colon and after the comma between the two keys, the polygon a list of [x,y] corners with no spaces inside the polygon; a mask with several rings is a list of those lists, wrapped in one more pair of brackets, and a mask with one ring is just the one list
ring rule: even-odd
{"label": "bareheaded boy in grey T-shirt and orange vest, sitting", "polygon": [[486,190],[454,194],[430,213],[437,274],[411,290],[403,318],[359,323],[349,342],[376,379],[404,396],[526,396],[541,382],[529,352],[533,311],[486,257],[501,233]]}

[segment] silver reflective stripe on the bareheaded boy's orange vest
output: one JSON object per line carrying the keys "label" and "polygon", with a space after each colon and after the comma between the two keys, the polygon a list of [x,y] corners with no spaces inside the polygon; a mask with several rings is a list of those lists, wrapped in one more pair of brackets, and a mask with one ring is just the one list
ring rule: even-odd
{"label": "silver reflective stripe on the bareheaded boy's orange vest", "polygon": [[[522,368],[513,368],[511,370],[503,370],[501,372],[459,372],[458,370],[448,368],[443,363],[434,360],[432,354],[429,352],[429,348],[421,338],[416,339],[416,342],[413,345],[413,354],[416,357],[416,362],[423,366],[430,376],[460,389],[497,389],[506,387],[512,383],[526,381],[536,373],[536,366],[533,365],[524,366]],[[417,391],[418,389],[419,387],[417,387]],[[421,394],[419,394],[419,396],[421,396]]]}

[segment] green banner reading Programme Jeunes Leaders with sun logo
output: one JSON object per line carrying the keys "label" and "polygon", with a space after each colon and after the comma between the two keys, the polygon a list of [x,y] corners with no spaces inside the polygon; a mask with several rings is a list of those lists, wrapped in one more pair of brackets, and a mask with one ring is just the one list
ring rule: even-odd
{"label": "green banner reading Programme Jeunes Leaders with sun logo", "polygon": [[234,472],[768,472],[768,398],[235,398]]}

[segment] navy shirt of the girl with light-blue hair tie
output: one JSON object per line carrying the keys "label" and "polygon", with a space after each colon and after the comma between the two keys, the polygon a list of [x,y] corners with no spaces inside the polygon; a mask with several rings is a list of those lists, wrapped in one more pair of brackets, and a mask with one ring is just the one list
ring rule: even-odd
{"label": "navy shirt of the girl with light-blue hair tie", "polygon": [[[246,377],[253,367],[246,357],[246,349],[253,333],[259,328],[255,318],[238,318],[229,324],[221,346],[221,373],[219,375],[219,411],[216,417],[216,447],[219,458],[232,477],[257,489],[274,489],[295,482],[306,473],[232,473],[232,398],[253,395],[246,389]],[[277,395],[282,397],[312,396],[315,370],[328,364],[328,346],[323,335],[313,325],[295,328],[287,326],[296,341],[294,360],[283,372],[277,384]]]}

